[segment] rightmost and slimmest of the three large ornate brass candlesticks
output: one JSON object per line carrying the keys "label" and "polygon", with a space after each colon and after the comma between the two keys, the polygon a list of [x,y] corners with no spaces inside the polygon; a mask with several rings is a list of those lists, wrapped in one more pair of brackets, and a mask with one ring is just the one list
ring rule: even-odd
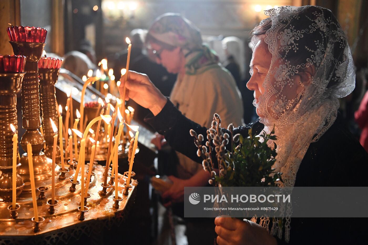
{"label": "rightmost and slimmest of the three large ornate brass candlesticks", "polygon": [[[51,118],[56,125],[59,125],[59,117],[56,111],[55,84],[59,76],[60,69],[43,69],[38,70],[40,78],[40,101],[42,110],[42,127],[46,140],[46,148],[43,149],[45,155],[52,158],[54,131],[50,122]],[[60,147],[56,146],[56,163],[60,163]]]}

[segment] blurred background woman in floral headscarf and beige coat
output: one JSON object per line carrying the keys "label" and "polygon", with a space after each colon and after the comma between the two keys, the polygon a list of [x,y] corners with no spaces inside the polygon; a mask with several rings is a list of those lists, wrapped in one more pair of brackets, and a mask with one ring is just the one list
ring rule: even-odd
{"label": "blurred background woman in floral headscarf and beige coat", "polygon": [[[236,82],[219,64],[216,54],[202,43],[201,33],[192,22],[178,14],[161,15],[149,29],[146,45],[154,61],[178,74],[170,100],[181,113],[205,127],[210,126],[215,112],[223,115],[225,123],[242,125],[243,104]],[[159,149],[162,139],[158,136],[153,140]],[[177,156],[178,178],[169,177],[173,187],[162,195],[170,200],[168,204],[182,202],[184,186],[208,184],[208,173],[200,165],[181,153]]]}

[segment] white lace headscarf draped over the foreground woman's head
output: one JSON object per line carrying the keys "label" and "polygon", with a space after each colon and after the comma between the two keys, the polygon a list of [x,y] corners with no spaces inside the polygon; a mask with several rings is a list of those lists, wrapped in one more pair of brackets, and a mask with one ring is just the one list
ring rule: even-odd
{"label": "white lace headscarf draped over the foreground woman's head", "polygon": [[[275,125],[278,155],[274,167],[283,173],[280,186],[293,187],[309,144],[334,123],[338,98],[347,96],[355,87],[353,58],[346,36],[330,10],[284,6],[265,13],[269,18],[260,25],[272,21],[265,34],[272,60],[263,82],[265,92],[254,105],[264,115],[260,121],[266,132]],[[309,81],[300,83],[295,78],[304,69],[315,72]],[[295,86],[302,88],[298,94]],[[288,241],[290,219],[284,226]],[[271,234],[280,236],[280,232],[276,228]]]}

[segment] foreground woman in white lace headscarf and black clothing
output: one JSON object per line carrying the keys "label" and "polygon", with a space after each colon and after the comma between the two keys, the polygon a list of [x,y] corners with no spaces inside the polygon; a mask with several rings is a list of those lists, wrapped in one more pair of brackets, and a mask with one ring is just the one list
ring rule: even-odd
{"label": "foreground woman in white lace headscarf and black clothing", "polygon": [[[354,89],[355,74],[336,17],[316,6],[284,6],[266,14],[270,17],[253,31],[252,77],[247,87],[254,90],[254,105],[262,122],[258,126],[267,133],[275,127],[278,136],[273,167],[283,173],[280,187],[368,186],[364,171],[367,152],[337,113],[338,99]],[[131,73],[126,86],[128,97],[151,110],[153,116],[146,121],[162,132],[173,148],[200,162],[188,131],[206,134],[206,128],[180,114],[147,77]],[[234,133],[247,135],[246,129],[240,127]],[[192,149],[182,147],[190,144]],[[288,207],[287,212],[291,212]],[[280,223],[267,217],[251,221],[217,217],[217,243],[366,242],[363,218],[286,218],[282,227]]]}

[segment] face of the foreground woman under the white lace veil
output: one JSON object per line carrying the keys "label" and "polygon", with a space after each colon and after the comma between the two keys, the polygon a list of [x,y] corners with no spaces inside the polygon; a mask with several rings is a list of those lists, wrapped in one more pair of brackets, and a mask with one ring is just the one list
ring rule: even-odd
{"label": "face of the foreground woman under the white lace veil", "polygon": [[[257,115],[262,118],[272,117],[274,120],[277,120],[287,110],[294,108],[299,101],[298,98],[304,89],[302,80],[306,82],[305,72],[302,71],[298,75],[290,76],[291,80],[289,82],[280,85],[282,83],[276,79],[279,75],[275,72],[279,68],[280,63],[275,61],[271,67],[272,54],[268,50],[268,45],[264,42],[264,37],[255,37],[254,43],[250,63],[251,78],[247,83],[247,88],[254,90]],[[268,73],[269,76],[266,83],[264,83]],[[267,92],[267,95],[261,97],[262,101],[260,103],[259,97],[264,95],[265,92]]]}

